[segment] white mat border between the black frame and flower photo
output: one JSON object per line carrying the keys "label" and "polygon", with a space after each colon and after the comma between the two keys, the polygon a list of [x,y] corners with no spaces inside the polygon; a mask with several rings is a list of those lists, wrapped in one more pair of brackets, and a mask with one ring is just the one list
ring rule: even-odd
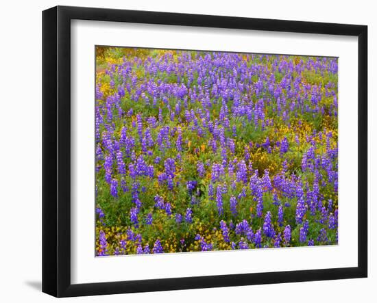
{"label": "white mat border between the black frame and flower photo", "polygon": [[[71,41],[72,283],[357,266],[357,38],[73,21]],[[340,245],[95,258],[95,44],[339,57]]]}

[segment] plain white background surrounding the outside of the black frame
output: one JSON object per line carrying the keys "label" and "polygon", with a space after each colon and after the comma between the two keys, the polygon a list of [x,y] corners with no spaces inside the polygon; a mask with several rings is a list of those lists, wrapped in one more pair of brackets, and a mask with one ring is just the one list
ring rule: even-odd
{"label": "plain white background surrounding the outside of the black frame", "polygon": [[[81,5],[160,10],[287,20],[369,25],[369,155],[376,154],[377,20],[373,1],[7,1],[2,3],[1,88],[1,259],[3,302],[51,302],[40,293],[41,280],[41,10],[53,5]],[[374,139],[372,140],[372,133]],[[374,173],[372,174],[372,170]],[[376,233],[372,222],[377,192],[376,160],[369,156],[369,278],[220,289],[70,298],[64,302],[374,302],[377,298]],[[374,185],[376,187],[376,185]]]}

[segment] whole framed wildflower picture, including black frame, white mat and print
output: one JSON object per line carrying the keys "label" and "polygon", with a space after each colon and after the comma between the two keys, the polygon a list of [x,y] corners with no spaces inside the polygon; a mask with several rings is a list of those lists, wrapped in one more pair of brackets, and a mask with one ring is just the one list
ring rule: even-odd
{"label": "whole framed wildflower picture, including black frame, white mat and print", "polygon": [[367,276],[367,27],[42,14],[42,291]]}

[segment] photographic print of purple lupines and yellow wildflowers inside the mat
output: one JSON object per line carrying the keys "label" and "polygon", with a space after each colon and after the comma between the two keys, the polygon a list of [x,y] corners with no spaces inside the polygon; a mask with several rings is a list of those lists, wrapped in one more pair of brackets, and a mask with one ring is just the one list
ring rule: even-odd
{"label": "photographic print of purple lupines and yellow wildflowers inside the mat", "polygon": [[95,256],[337,245],[337,57],[97,46],[95,83]]}

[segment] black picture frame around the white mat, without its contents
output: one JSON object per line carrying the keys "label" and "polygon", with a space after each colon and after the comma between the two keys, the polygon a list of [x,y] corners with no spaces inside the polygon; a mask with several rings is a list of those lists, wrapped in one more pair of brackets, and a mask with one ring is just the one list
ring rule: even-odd
{"label": "black picture frame around the white mat, without its contents", "polygon": [[[358,37],[357,267],[71,284],[71,21]],[[356,188],[355,188],[356,190]],[[42,12],[42,291],[56,297],[367,277],[367,26],[57,6]]]}

